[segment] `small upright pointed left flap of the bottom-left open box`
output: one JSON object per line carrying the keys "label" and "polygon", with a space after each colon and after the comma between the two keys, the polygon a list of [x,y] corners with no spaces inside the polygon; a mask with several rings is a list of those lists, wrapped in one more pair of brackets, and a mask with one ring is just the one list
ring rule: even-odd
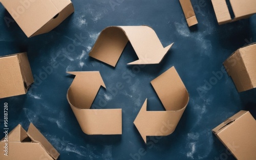
{"label": "small upright pointed left flap of the bottom-left open box", "polygon": [[[27,132],[20,124],[8,133],[9,142],[22,142],[26,138],[28,138]],[[4,142],[4,139],[2,139],[2,142]]]}

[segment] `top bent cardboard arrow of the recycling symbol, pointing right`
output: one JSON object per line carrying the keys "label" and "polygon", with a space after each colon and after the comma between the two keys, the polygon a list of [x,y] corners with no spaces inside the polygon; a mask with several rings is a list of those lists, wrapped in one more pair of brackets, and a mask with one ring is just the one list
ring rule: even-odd
{"label": "top bent cardboard arrow of the recycling symbol, pointing right", "polygon": [[100,33],[89,56],[115,67],[128,41],[139,58],[129,64],[158,64],[173,45],[163,48],[148,26],[112,26]]}

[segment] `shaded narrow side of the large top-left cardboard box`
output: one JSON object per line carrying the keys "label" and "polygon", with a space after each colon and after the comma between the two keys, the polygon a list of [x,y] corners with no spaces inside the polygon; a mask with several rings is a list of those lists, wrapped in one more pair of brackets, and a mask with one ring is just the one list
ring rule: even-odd
{"label": "shaded narrow side of the large top-left cardboard box", "polygon": [[54,18],[48,21],[47,24],[45,24],[38,31],[36,31],[31,37],[50,32],[51,30],[56,28],[59,24],[61,24],[61,22],[65,20],[69,15],[71,15],[74,11],[75,11],[74,6],[70,2],[70,4],[68,4],[67,7],[62,9]]}

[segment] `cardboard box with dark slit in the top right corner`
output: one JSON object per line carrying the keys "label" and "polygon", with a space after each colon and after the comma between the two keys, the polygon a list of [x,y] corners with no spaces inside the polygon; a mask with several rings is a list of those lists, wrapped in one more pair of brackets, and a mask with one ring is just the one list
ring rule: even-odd
{"label": "cardboard box with dark slit in the top right corner", "polygon": [[226,24],[227,22],[237,21],[248,18],[256,13],[255,0],[229,0],[234,18],[232,19],[227,7],[226,0],[211,0],[214,6],[218,24]]}

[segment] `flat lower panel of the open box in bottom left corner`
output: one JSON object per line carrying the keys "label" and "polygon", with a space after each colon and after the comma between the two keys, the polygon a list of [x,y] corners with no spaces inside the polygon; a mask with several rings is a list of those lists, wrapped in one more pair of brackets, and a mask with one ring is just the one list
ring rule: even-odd
{"label": "flat lower panel of the open box in bottom left corner", "polygon": [[[1,142],[0,147],[4,148],[5,143]],[[0,154],[0,159],[5,160],[54,160],[39,143],[8,143],[8,156]]]}

